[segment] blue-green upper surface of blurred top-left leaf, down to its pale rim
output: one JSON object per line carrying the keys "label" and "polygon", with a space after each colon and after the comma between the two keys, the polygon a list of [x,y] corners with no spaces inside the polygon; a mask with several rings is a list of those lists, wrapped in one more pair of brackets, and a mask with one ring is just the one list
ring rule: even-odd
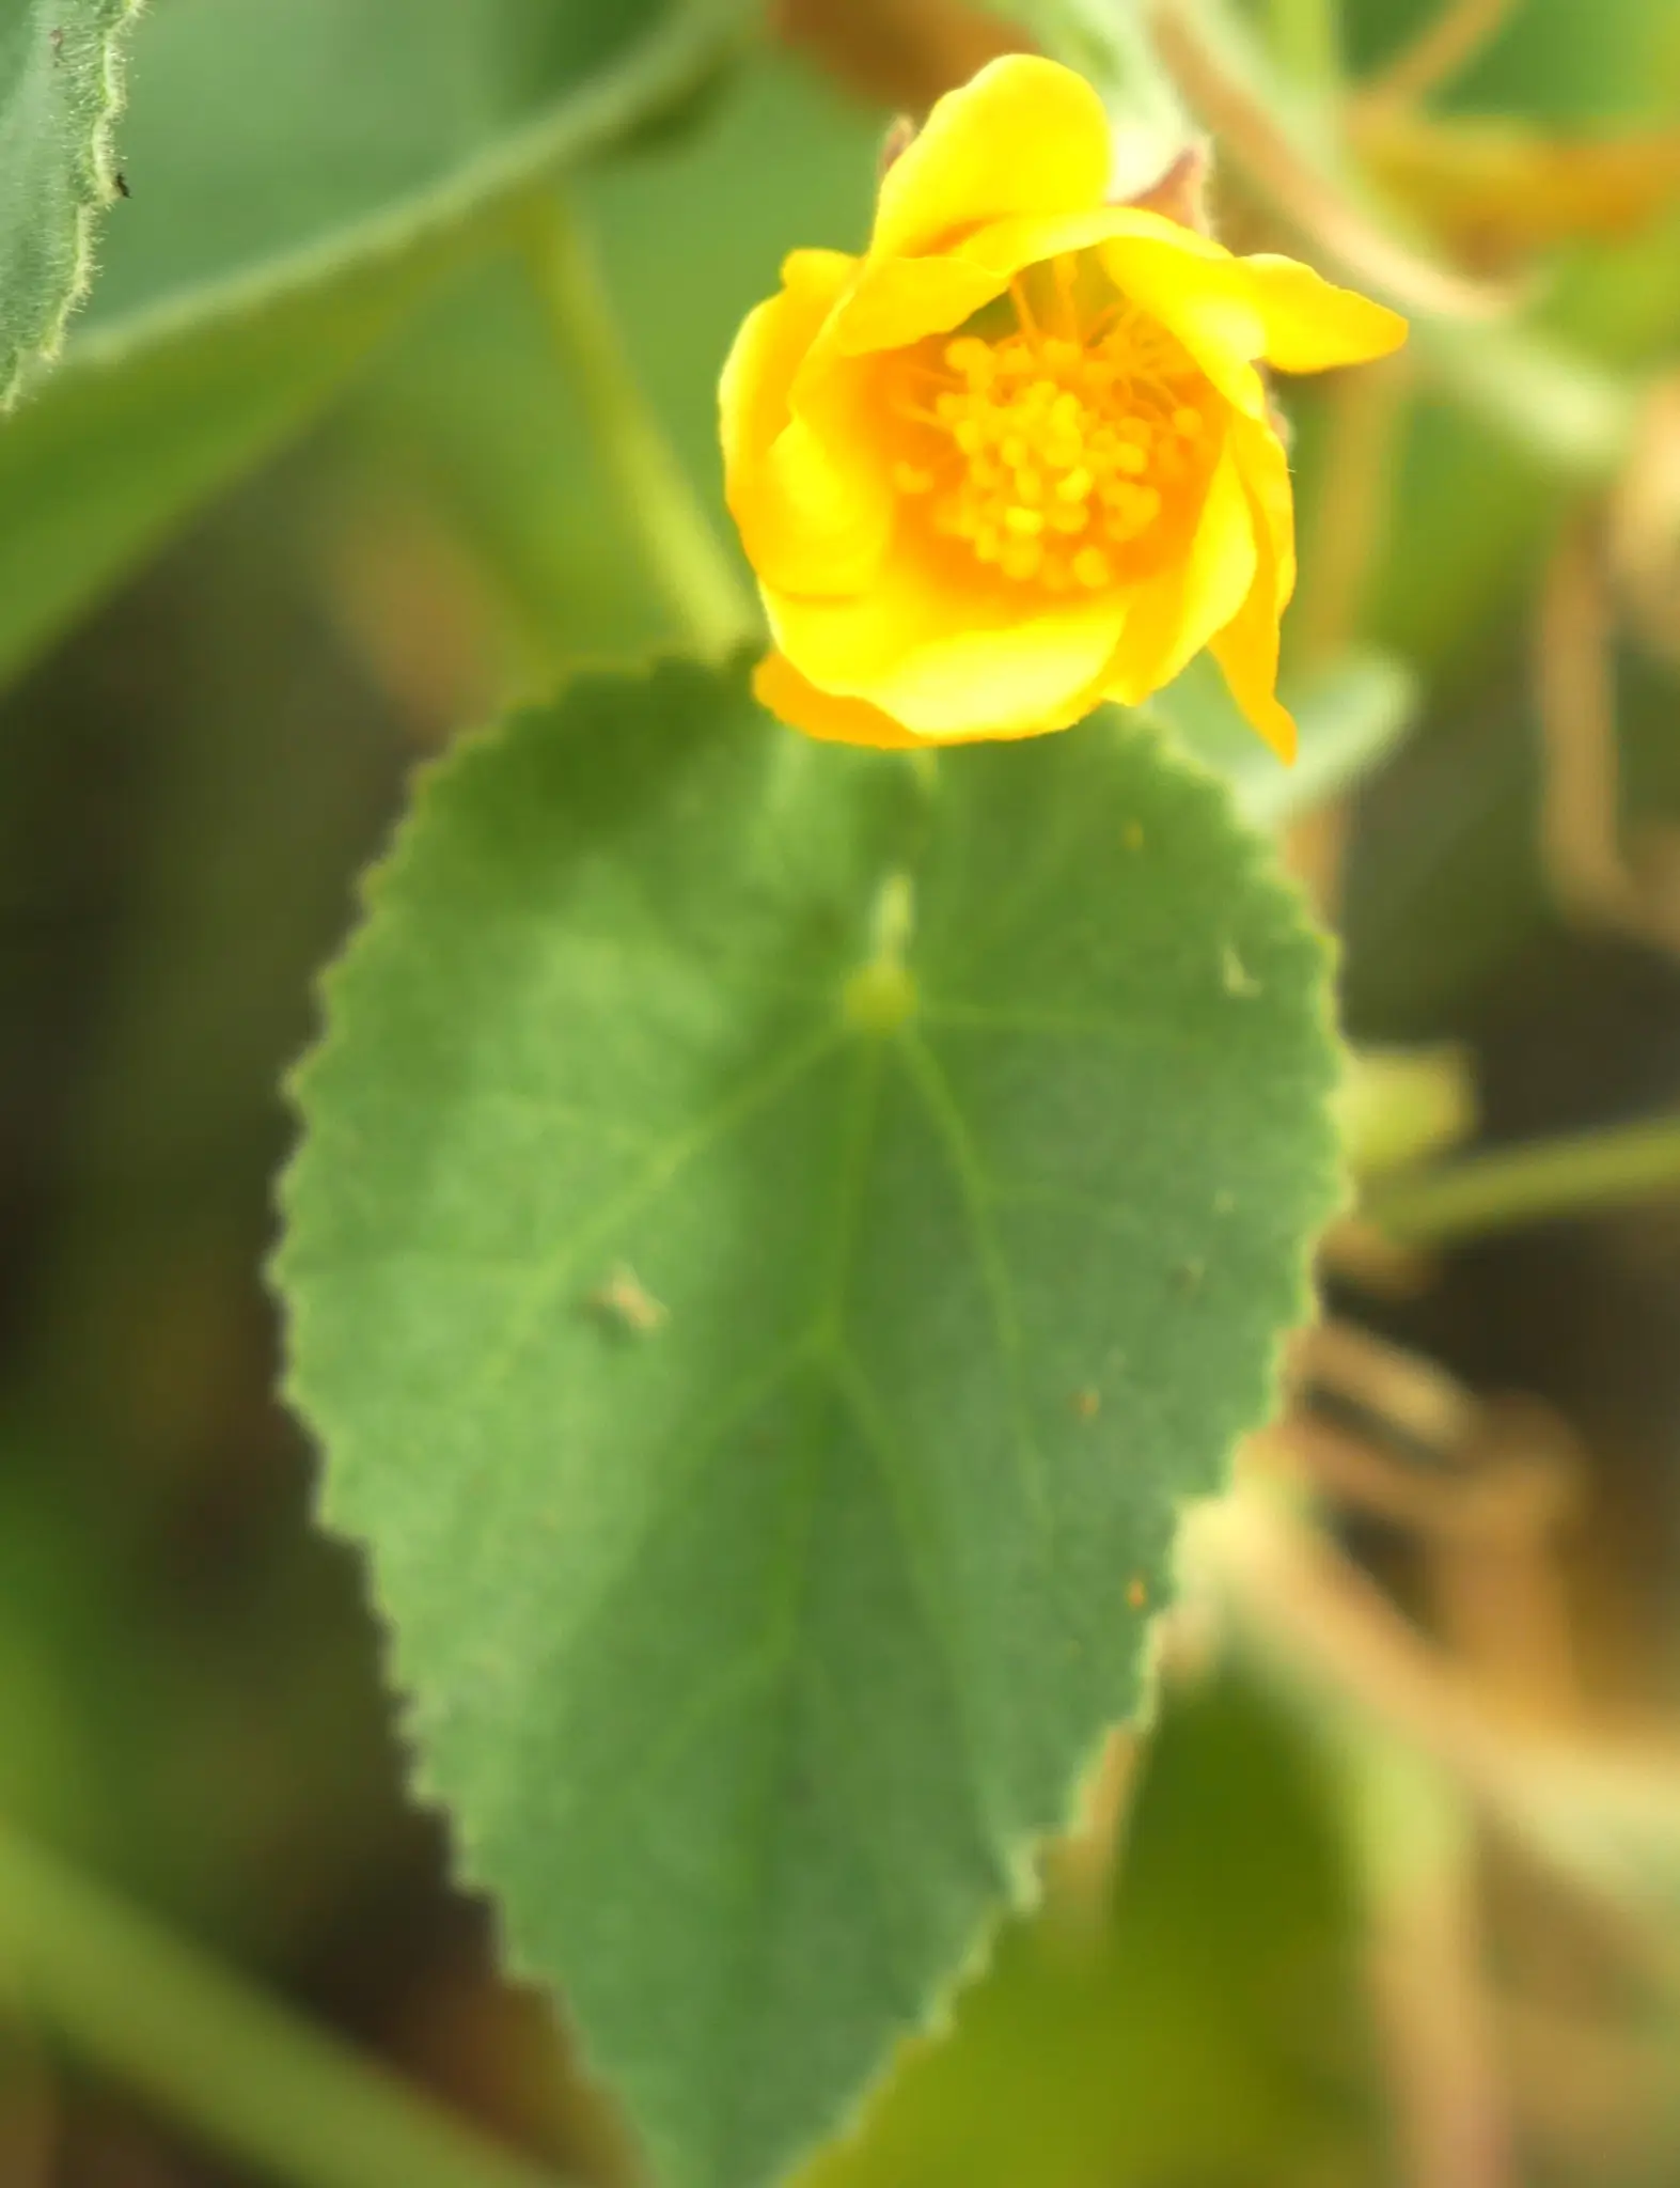
{"label": "blue-green upper surface of blurred top-left leaf, down to its pale rim", "polygon": [[580,133],[599,151],[678,98],[724,22],[724,0],[168,0],[90,317],[214,309],[258,269],[291,289],[468,225]]}

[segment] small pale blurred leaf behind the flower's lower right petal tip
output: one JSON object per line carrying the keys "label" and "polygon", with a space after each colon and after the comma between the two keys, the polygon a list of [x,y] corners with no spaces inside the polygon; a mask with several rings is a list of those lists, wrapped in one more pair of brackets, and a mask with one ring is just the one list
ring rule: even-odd
{"label": "small pale blurred leaf behind the flower's lower right petal tip", "polygon": [[1208,654],[1159,691],[1148,713],[1229,779],[1245,818],[1282,827],[1348,790],[1396,746],[1418,711],[1418,680],[1391,654],[1352,654],[1284,687],[1284,702],[1302,731],[1293,768],[1256,737]]}

